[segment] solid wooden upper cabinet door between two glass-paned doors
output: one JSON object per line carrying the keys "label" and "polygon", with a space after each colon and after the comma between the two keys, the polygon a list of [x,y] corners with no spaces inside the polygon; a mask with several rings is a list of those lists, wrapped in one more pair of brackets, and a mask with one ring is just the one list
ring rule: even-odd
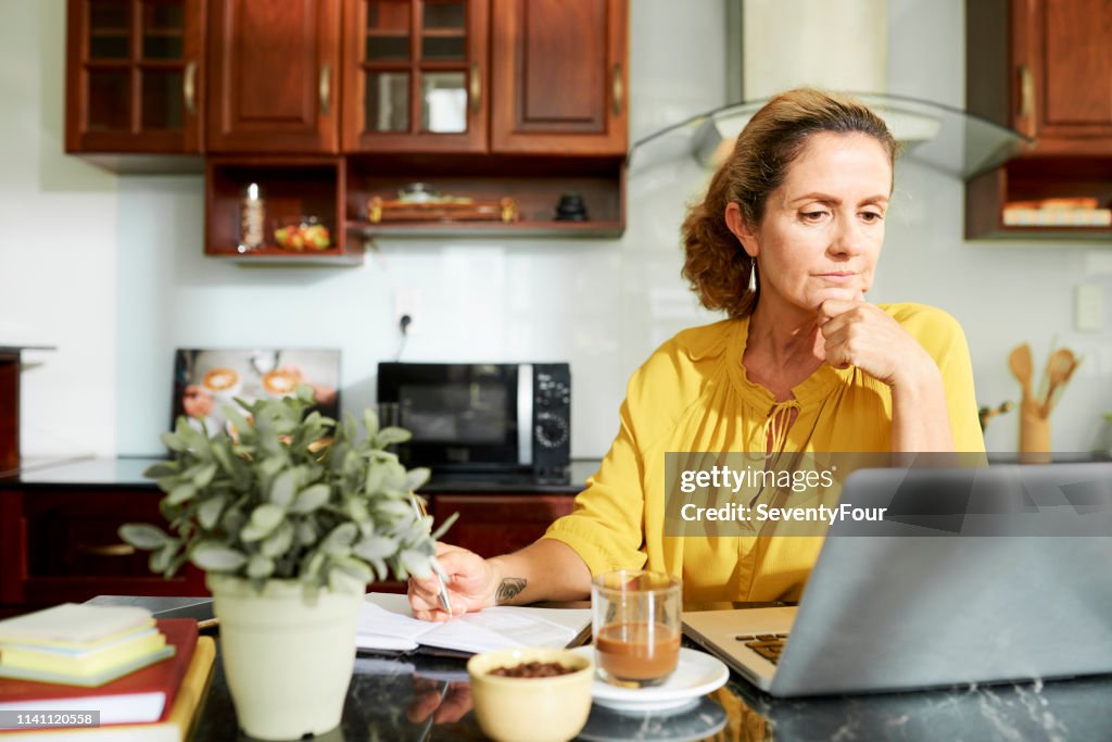
{"label": "solid wooden upper cabinet door between two glass-paned doors", "polygon": [[212,0],[209,151],[338,151],[339,2]]}

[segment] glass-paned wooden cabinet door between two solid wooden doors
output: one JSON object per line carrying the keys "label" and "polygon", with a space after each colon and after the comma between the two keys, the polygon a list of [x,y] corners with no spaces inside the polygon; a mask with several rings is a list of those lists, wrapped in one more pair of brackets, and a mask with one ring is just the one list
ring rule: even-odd
{"label": "glass-paned wooden cabinet door between two solid wooden doors", "polygon": [[344,149],[487,148],[487,0],[346,0]]}

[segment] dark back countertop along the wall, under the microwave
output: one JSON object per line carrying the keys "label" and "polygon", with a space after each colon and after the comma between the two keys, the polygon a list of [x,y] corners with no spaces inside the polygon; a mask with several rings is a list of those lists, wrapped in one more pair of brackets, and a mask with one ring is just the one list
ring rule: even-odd
{"label": "dark back countertop along the wall, under the microwave", "polygon": [[[91,489],[155,488],[142,475],[147,467],[163,461],[153,456],[117,458],[73,457],[24,459],[19,469],[0,473],[0,488],[57,487],[64,485]],[[577,494],[584,481],[598,471],[598,459],[576,459],[568,467],[566,482],[538,482],[526,476],[446,476],[434,475],[423,493],[517,493]]]}

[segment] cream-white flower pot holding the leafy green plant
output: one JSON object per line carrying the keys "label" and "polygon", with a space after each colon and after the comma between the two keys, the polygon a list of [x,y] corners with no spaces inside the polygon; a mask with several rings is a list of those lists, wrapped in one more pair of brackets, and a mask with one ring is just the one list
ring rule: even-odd
{"label": "cream-white flower pot holding the leafy green plant", "polygon": [[210,574],[207,584],[240,728],[261,740],[296,740],[339,725],[361,586],[322,590],[310,605],[296,580],[269,580],[261,594],[237,577]]}

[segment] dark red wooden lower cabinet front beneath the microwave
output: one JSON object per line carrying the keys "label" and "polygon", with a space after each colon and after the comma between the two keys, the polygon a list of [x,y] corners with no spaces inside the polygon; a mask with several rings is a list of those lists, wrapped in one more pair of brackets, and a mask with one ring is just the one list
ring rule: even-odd
{"label": "dark red wooden lower cabinet front beneath the microwave", "polygon": [[444,540],[489,558],[543,536],[553,521],[572,512],[575,495],[436,494],[431,499],[437,524],[459,513]]}

